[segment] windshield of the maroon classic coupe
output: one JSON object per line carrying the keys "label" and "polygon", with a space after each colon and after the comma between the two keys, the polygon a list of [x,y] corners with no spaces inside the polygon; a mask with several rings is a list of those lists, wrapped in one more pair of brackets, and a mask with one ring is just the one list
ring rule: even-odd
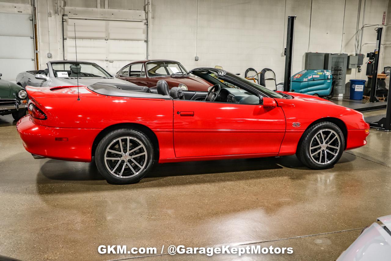
{"label": "windshield of the maroon classic coupe", "polygon": [[170,61],[155,61],[147,63],[147,74],[148,77],[159,77],[159,76],[183,76],[188,74],[185,67],[178,62]]}

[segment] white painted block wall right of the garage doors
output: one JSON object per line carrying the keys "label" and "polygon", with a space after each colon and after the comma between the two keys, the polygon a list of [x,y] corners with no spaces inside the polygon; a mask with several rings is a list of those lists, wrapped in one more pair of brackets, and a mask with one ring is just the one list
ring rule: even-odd
{"label": "white painted block wall right of the garage doors", "polygon": [[[388,0],[366,2],[364,24],[381,24]],[[179,60],[188,69],[221,65],[242,75],[248,67],[258,72],[268,67],[282,82],[287,16],[297,15],[293,72],[298,72],[307,51],[341,53],[342,47],[344,53],[355,53],[358,4],[359,0],[346,0],[346,7],[343,0],[152,0],[150,58]],[[363,43],[375,40],[374,27],[365,28]],[[362,53],[373,49],[364,45]],[[348,70],[346,80],[366,79],[365,68],[361,73]]]}

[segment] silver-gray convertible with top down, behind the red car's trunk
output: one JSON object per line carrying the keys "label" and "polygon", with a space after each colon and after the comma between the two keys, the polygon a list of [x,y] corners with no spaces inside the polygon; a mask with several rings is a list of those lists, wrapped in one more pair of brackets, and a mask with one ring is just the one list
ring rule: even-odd
{"label": "silver-gray convertible with top down, behind the red car's trunk", "polygon": [[21,72],[16,76],[16,83],[23,88],[27,85],[43,86],[75,86],[91,85],[94,83],[120,83],[135,85],[111,76],[96,63],[83,61],[50,61],[48,68],[39,71]]}

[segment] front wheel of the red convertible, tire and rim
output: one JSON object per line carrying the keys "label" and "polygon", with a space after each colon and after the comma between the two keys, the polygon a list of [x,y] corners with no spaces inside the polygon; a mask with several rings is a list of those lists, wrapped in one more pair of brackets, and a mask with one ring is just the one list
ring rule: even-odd
{"label": "front wheel of the red convertible, tire and rim", "polygon": [[[323,138],[321,138],[322,135]],[[339,149],[335,149],[336,147]],[[339,161],[344,148],[345,139],[341,129],[334,123],[323,121],[316,123],[303,133],[296,156],[310,169],[328,169]],[[320,152],[317,152],[318,149]]]}

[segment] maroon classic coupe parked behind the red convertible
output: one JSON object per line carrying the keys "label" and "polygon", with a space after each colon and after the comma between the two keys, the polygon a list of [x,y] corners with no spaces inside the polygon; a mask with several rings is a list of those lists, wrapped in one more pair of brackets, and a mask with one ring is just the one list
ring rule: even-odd
{"label": "maroon classic coupe parked behind the red convertible", "polygon": [[179,87],[184,91],[208,91],[210,87],[210,83],[191,76],[181,63],[171,60],[132,62],[120,69],[115,77],[150,88],[159,80],[165,80],[170,89]]}

